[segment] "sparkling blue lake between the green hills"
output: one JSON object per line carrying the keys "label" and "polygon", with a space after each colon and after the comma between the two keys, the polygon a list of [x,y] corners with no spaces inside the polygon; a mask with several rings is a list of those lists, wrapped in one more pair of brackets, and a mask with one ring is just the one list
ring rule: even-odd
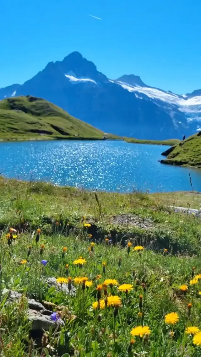
{"label": "sparkling blue lake between the green hills", "polygon": [[0,143],[0,172],[92,190],[201,191],[201,170],[162,165],[169,146],[124,141],[27,141]]}

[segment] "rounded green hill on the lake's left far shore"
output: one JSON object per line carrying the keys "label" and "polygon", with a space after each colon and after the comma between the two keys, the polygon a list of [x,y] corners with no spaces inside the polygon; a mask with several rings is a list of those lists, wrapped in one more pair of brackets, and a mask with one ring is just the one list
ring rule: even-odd
{"label": "rounded green hill on the lake's left far shore", "polygon": [[32,96],[0,101],[0,139],[102,139],[104,132]]}

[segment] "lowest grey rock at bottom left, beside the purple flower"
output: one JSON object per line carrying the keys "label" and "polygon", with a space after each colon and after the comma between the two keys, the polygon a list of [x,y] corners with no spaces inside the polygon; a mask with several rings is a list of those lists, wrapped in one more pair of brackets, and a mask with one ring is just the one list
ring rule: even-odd
{"label": "lowest grey rock at bottom left, beside the purple flower", "polygon": [[65,325],[62,320],[54,322],[50,316],[43,315],[41,312],[31,309],[28,310],[28,320],[32,322],[32,330],[48,331],[50,327],[58,328],[59,326]]}

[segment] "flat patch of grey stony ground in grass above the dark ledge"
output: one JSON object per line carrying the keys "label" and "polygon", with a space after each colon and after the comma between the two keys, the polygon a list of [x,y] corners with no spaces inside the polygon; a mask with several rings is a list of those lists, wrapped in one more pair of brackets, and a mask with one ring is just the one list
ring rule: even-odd
{"label": "flat patch of grey stony ground in grass above the dark ledge", "polygon": [[124,215],[112,216],[109,222],[118,226],[136,226],[144,229],[154,227],[151,218],[143,218],[131,213]]}

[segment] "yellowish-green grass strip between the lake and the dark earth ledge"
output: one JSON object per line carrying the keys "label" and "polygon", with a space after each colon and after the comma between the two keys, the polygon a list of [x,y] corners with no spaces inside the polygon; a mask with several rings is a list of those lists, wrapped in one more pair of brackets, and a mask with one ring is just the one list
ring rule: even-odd
{"label": "yellowish-green grass strip between the lake and the dark earth ledge", "polygon": [[[150,217],[154,222],[153,232],[157,230],[169,231],[169,223],[174,225],[175,237],[180,234],[180,215],[169,214],[166,206],[184,206],[199,208],[201,195],[191,192],[170,193],[106,193],[99,192],[102,217],[97,207],[93,192],[77,190],[73,187],[57,187],[42,182],[21,182],[0,178],[0,225],[9,222],[18,223],[22,213],[25,221],[41,225],[43,217],[58,220],[60,213],[64,220],[73,223],[79,221],[82,215],[92,217],[104,228],[111,228],[110,217],[118,214],[135,213],[142,217]],[[5,202],[5,204],[4,204]],[[20,214],[21,214],[20,213]],[[135,227],[132,227],[135,231]],[[186,229],[186,228],[185,228]],[[138,227],[136,228],[138,231]],[[143,230],[142,230],[143,231]],[[153,234],[155,234],[153,233]],[[166,233],[165,233],[166,234]],[[172,232],[168,233],[171,235]],[[185,240],[189,240],[191,233],[185,232]]]}

